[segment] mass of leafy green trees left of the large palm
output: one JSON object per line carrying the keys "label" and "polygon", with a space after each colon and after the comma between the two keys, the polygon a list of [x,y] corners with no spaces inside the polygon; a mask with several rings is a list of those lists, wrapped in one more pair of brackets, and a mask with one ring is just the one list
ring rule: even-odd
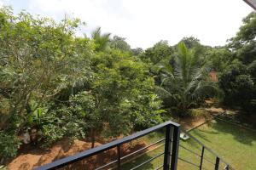
{"label": "mass of leafy green trees left of the large palm", "polygon": [[15,156],[17,137],[39,145],[91,139],[93,147],[96,137],[162,121],[148,65],[109,46],[110,34],[75,37],[78,19],[55,23],[9,8],[0,17],[0,157]]}

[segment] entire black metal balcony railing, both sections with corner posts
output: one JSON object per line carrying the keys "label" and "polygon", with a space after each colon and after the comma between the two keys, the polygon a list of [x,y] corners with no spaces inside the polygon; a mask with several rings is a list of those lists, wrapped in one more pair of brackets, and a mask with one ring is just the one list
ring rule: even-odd
{"label": "entire black metal balcony railing, both sections with corner posts", "polygon": [[[147,146],[133,151],[132,153],[128,154],[128,155],[124,155],[122,156],[121,153],[121,147],[123,144],[129,143],[135,139],[140,139],[143,136],[149,134],[149,133],[154,133],[158,130],[161,129],[165,129],[165,138],[164,139],[160,139],[156,142],[154,142],[153,144],[148,144]],[[114,140],[113,142],[110,142],[108,144],[102,144],[96,148],[90,149],[90,150],[85,150],[83,152],[80,152],[77,155],[74,156],[68,156],[66,158],[63,158],[61,160],[58,161],[54,161],[52,163],[49,163],[47,165],[44,165],[43,167],[38,167],[37,170],[46,170],[46,169],[59,169],[61,167],[67,167],[67,166],[75,166],[74,163],[78,162],[78,161],[82,161],[86,158],[89,158],[91,156],[96,156],[98,154],[103,153],[104,151],[107,150],[113,150],[114,148],[117,151],[116,154],[116,158],[114,161],[110,161],[108,163],[106,163],[105,165],[102,165],[101,167],[96,167],[96,170],[100,170],[100,169],[108,169],[110,167],[115,167],[117,169],[123,169],[121,167],[122,163],[124,163],[123,161],[127,160],[127,157],[131,157],[131,156],[136,156],[137,153],[142,152],[143,150],[148,149],[149,147],[152,147],[156,144],[160,144],[163,143],[165,144],[164,146],[164,151],[161,152],[160,154],[151,157],[150,159],[148,159],[147,161],[143,161],[143,163],[140,163],[139,165],[136,165],[134,167],[132,167],[131,169],[137,169],[137,168],[143,168],[144,165],[148,164],[150,161],[153,161],[154,159],[160,157],[160,156],[164,156],[164,160],[161,163],[160,167],[157,167],[156,169],[164,169],[164,170],[176,170],[177,169],[177,160],[180,161],[184,161],[192,166],[198,167],[198,169],[207,169],[204,168],[203,162],[204,161],[208,161],[210,163],[212,163],[212,165],[214,166],[215,170],[218,170],[219,168],[219,162],[222,161],[225,164],[225,169],[229,170],[229,169],[233,169],[232,167],[230,167],[230,165],[228,163],[226,163],[225,161],[223,161],[222,159],[220,159],[219,156],[217,156],[212,150],[210,150],[209,148],[207,148],[207,146],[205,146],[204,144],[202,144],[198,139],[195,139],[193,136],[191,136],[189,133],[186,133],[187,135],[189,135],[189,137],[193,140],[195,140],[195,142],[197,144],[201,145],[201,155],[195,153],[195,151],[193,150],[189,150],[189,148],[183,146],[182,144],[179,144],[179,139],[180,139],[180,132],[181,132],[181,127],[179,124],[177,124],[176,122],[165,122],[162,123],[160,125],[157,125],[155,127],[150,127],[146,130],[143,130],[141,132],[138,133],[134,133],[130,136],[127,136],[123,139],[118,139],[118,140]],[[188,161],[186,159],[183,159],[182,157],[179,157],[178,155],[178,150],[179,147],[183,148],[184,150],[188,150],[190,153],[195,154],[195,156],[199,156],[201,159],[200,165],[196,165],[195,162],[191,162]],[[205,156],[204,156],[204,152],[205,150],[208,150],[214,157],[216,157],[215,163],[208,160]],[[86,168],[86,164],[84,165],[84,168]],[[66,168],[68,169],[68,167]],[[73,169],[72,167],[70,167],[70,169]],[[146,169],[146,168],[145,168]]]}

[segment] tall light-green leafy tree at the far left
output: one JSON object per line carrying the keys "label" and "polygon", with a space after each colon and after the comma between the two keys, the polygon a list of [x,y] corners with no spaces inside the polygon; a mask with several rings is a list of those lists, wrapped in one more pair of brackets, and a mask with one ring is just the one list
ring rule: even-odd
{"label": "tall light-green leafy tree at the far left", "polygon": [[60,121],[54,104],[63,89],[86,79],[93,51],[88,38],[74,37],[77,19],[55,23],[0,8],[0,22],[0,108],[5,108],[0,111],[0,148],[12,148],[0,150],[0,157],[9,157],[20,143],[5,139],[19,141],[18,134],[35,129],[42,140],[55,141],[75,125],[78,119],[66,122],[63,116]]}

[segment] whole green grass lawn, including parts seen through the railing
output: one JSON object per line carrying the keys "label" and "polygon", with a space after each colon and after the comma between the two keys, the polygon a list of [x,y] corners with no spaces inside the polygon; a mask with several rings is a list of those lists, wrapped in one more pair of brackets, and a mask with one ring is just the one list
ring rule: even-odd
{"label": "whole green grass lawn, including parts seen through the railing", "polygon": [[[203,144],[206,144],[212,150],[214,150],[218,156],[228,161],[235,169],[242,170],[255,170],[256,169],[256,133],[242,129],[235,125],[226,122],[212,121],[211,125],[203,125],[190,132],[195,138],[201,140]],[[142,140],[148,144],[157,141],[158,139],[164,138],[163,133],[151,133]],[[193,139],[189,139],[180,144],[193,150],[195,153],[201,155],[201,145],[195,143]],[[135,160],[125,163],[122,169],[131,169],[136,167],[143,161],[147,161],[149,158],[157,156],[164,151],[164,147],[161,146],[156,150],[149,151],[143,156],[137,157]],[[200,157],[190,153],[188,150],[184,150],[179,147],[179,157],[191,161],[196,165],[200,164]],[[216,157],[213,156],[209,151],[205,150],[205,157],[207,160],[215,162]],[[138,169],[155,169],[162,165],[163,156],[155,159]],[[203,167],[206,169],[214,169],[214,165],[208,161],[203,161]],[[221,162],[220,169],[224,168],[224,163]],[[186,162],[178,161],[178,169],[180,170],[193,170],[198,169]]]}

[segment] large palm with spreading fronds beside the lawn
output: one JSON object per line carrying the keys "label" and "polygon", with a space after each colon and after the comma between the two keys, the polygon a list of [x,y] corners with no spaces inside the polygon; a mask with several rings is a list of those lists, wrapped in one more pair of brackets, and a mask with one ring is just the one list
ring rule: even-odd
{"label": "large palm with spreading fronds beside the lawn", "polygon": [[158,64],[161,82],[158,92],[172,111],[183,116],[207,97],[217,96],[219,90],[210,81],[209,69],[195,55],[195,50],[189,50],[183,42],[177,48],[172,69]]}

